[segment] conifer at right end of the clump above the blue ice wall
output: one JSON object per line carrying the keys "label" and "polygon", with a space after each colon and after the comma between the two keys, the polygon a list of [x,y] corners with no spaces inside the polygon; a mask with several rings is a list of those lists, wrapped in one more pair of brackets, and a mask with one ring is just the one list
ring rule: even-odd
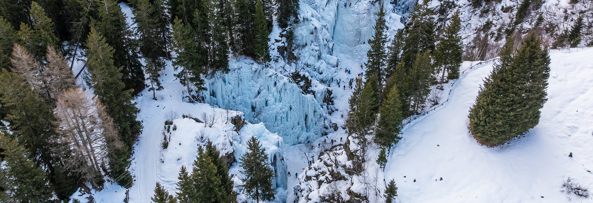
{"label": "conifer at right end of the clump above the blue ice wall", "polygon": [[256,15],[254,19],[254,54],[257,55],[258,61],[270,61],[270,46],[267,44],[270,41],[270,33],[267,29],[266,18],[262,9],[262,1],[260,0],[257,0]]}

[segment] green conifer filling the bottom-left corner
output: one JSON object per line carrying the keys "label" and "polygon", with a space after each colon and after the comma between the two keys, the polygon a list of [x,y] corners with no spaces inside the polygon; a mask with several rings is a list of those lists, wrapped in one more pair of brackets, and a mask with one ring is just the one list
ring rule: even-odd
{"label": "green conifer filling the bottom-left corner", "polygon": [[0,155],[4,158],[0,163],[0,194],[2,202],[58,202],[55,199],[52,185],[46,173],[36,165],[23,146],[17,140],[0,133]]}

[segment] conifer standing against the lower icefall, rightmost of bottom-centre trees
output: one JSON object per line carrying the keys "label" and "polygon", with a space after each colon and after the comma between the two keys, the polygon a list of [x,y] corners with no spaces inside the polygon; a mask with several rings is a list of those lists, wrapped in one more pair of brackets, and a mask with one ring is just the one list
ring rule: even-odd
{"label": "conifer standing against the lower icefall, rightmost of bottom-centre trees", "polygon": [[247,195],[259,201],[270,201],[274,198],[276,191],[272,188],[274,172],[267,164],[267,154],[256,137],[251,137],[247,142],[247,150],[239,160],[243,168],[240,171],[245,176],[243,188]]}

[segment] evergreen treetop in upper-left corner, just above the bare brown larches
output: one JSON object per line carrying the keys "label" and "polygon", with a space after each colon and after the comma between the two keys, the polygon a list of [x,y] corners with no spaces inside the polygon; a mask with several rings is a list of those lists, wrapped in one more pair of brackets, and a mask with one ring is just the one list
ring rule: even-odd
{"label": "evergreen treetop in upper-left corner, just above the bare brown larches", "polygon": [[55,25],[52,19],[47,18],[44,9],[36,2],[31,4],[30,15],[33,26],[30,27],[23,23],[21,24],[21,30],[18,31],[21,44],[31,51],[37,60],[44,61],[47,46],[56,47],[58,45],[58,38],[56,38],[53,30]]}

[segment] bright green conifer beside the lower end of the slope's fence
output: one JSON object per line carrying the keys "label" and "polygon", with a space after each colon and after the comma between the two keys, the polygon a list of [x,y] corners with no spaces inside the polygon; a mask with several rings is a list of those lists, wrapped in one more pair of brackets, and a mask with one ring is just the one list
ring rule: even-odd
{"label": "bright green conifer beside the lower end of the slope's fence", "polygon": [[397,86],[391,87],[387,98],[380,107],[379,123],[375,143],[390,147],[401,139],[399,135],[404,113],[401,111],[400,93]]}

